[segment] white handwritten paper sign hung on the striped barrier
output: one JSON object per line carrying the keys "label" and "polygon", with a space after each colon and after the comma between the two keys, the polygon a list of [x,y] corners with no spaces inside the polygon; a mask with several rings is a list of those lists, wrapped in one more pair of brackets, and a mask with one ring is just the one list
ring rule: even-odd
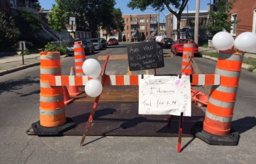
{"label": "white handwritten paper sign hung on the striped barrier", "polygon": [[139,114],[191,116],[191,88],[187,75],[144,75],[139,80]]}

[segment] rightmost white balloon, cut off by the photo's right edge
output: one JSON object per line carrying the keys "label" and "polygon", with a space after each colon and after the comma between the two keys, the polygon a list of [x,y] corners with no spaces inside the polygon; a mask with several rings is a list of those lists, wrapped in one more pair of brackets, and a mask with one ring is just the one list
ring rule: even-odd
{"label": "rightmost white balloon, cut off by the photo's right edge", "polygon": [[256,47],[256,35],[252,32],[244,32],[236,37],[235,47],[238,50],[249,51]]}

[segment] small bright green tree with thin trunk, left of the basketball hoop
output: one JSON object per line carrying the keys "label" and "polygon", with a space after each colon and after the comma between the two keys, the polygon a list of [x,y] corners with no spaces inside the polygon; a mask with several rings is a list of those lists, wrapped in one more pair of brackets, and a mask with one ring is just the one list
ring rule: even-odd
{"label": "small bright green tree with thin trunk, left of the basketball hoop", "polygon": [[[57,6],[53,4],[52,7],[52,13],[48,13],[49,19],[48,23],[50,24],[50,27],[54,29],[55,31],[60,32],[63,29],[66,29],[65,25],[67,23],[67,13],[65,10],[63,10],[63,4],[61,0],[55,0],[57,3]],[[61,38],[60,38],[61,40]]]}

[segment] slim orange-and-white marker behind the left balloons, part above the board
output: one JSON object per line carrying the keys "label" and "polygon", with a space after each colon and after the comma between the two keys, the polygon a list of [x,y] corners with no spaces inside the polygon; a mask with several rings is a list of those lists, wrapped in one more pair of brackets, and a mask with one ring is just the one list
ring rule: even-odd
{"label": "slim orange-and-white marker behind the left balloons, part above the board", "polygon": [[86,60],[86,55],[84,53],[83,43],[81,41],[74,43],[74,64],[76,75],[84,75],[83,73],[83,61]]}

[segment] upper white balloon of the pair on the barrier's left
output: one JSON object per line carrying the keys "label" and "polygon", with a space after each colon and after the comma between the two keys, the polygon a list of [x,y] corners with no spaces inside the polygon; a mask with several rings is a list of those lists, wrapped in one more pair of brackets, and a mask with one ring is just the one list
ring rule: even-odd
{"label": "upper white balloon of the pair on the barrier's left", "polygon": [[101,73],[100,63],[95,59],[86,59],[86,61],[83,62],[82,69],[83,73],[91,78],[97,78]]}

